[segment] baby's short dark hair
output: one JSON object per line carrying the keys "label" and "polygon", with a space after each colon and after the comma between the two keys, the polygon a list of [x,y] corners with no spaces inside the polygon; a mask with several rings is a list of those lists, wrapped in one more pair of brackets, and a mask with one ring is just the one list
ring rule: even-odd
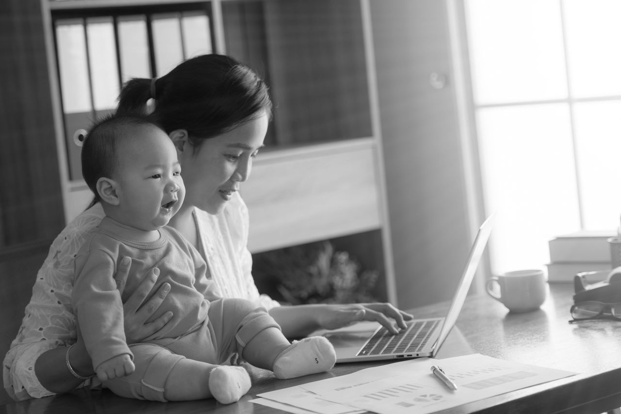
{"label": "baby's short dark hair", "polygon": [[94,204],[100,200],[97,194],[97,180],[110,178],[119,163],[121,140],[130,137],[135,127],[155,127],[160,125],[150,116],[135,113],[115,113],[94,120],[86,133],[82,145],[82,176],[93,191]]}

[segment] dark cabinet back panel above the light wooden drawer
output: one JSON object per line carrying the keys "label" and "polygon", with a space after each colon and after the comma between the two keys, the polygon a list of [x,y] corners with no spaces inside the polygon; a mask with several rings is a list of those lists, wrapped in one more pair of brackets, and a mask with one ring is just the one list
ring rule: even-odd
{"label": "dark cabinet back panel above the light wooden drawer", "polygon": [[371,135],[358,0],[265,2],[279,143]]}

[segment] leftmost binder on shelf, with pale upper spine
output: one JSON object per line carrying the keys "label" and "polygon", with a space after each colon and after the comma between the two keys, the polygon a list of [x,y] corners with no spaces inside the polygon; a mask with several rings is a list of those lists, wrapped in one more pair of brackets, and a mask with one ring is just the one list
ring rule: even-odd
{"label": "leftmost binder on shelf, with pale upper spine", "polygon": [[84,20],[59,19],[54,30],[69,177],[73,181],[82,179],[80,148],[73,142],[73,134],[87,128],[94,117]]}

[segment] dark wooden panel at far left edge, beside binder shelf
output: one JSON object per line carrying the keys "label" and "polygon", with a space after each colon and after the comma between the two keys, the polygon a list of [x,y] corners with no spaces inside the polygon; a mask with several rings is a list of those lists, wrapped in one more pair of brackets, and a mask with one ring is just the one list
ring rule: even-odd
{"label": "dark wooden panel at far left edge, beside binder shelf", "polygon": [[0,2],[0,56],[0,246],[11,246],[64,225],[39,1]]}

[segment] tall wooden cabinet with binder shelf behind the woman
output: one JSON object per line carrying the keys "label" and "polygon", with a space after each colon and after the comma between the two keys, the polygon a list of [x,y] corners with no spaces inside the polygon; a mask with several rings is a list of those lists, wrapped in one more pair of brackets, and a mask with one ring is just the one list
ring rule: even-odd
{"label": "tall wooden cabinet with binder shelf behind the woman", "polygon": [[[72,142],[77,124],[67,108],[73,100],[63,90],[78,76],[63,80],[63,66],[75,70],[75,65],[63,65],[65,37],[59,35],[59,25],[84,25],[89,63],[92,50],[101,52],[89,47],[89,22],[107,19],[113,36],[109,43],[119,50],[120,22],[143,21],[150,74],[141,77],[148,77],[161,71],[155,19],[172,16],[171,24],[183,27],[185,14],[199,13],[208,22],[208,48],[254,68],[273,96],[267,148],[240,190],[252,218],[251,251],[353,235],[359,235],[354,237],[358,249],[377,248],[379,236],[381,254],[371,266],[379,267],[381,299],[396,302],[368,1],[42,0],[42,5],[67,221],[86,207],[91,194],[79,174],[79,148]],[[78,35],[83,34],[78,30]],[[185,36],[181,34],[188,42]],[[116,59],[119,74],[110,77],[112,89],[124,80],[123,54]],[[78,115],[111,109],[96,107],[91,66],[86,70],[93,106]]]}

